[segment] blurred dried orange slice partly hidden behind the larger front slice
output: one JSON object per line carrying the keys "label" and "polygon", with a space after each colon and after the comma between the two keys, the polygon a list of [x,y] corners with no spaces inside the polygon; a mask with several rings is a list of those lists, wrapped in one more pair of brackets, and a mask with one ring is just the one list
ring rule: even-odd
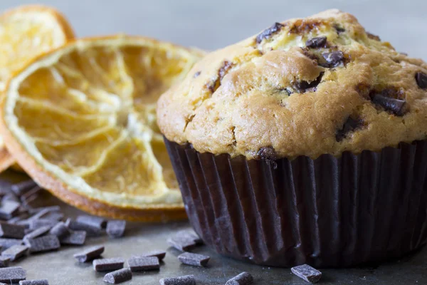
{"label": "blurred dried orange slice partly hidden behind the larger front slice", "polygon": [[[19,6],[0,15],[0,92],[28,61],[71,38],[73,29],[65,17],[46,6]],[[14,162],[0,139],[0,172]]]}

